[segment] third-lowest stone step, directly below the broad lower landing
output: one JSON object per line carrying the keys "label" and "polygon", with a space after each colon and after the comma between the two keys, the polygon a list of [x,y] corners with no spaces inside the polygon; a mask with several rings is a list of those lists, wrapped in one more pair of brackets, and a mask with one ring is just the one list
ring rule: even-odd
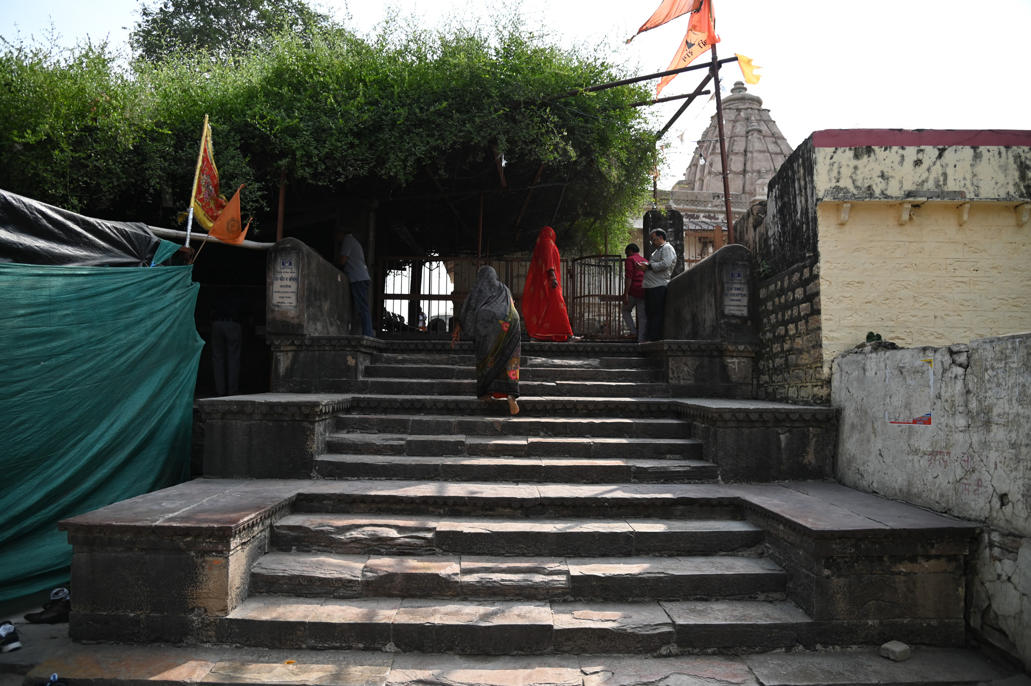
{"label": "third-lowest stone step, directly below the broad lower landing", "polygon": [[386,555],[752,554],[761,528],[736,519],[536,518],[295,512],[272,525],[282,552]]}

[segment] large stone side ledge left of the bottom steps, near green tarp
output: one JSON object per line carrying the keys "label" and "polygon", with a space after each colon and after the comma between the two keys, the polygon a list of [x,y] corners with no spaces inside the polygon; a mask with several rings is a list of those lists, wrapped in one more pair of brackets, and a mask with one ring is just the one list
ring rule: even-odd
{"label": "large stone side ledge left of the bottom steps, near green tarp", "polygon": [[[153,614],[227,614],[305,483],[197,479],[59,522],[74,546],[73,614],[134,615],[141,629]],[[98,636],[82,625],[72,638]]]}

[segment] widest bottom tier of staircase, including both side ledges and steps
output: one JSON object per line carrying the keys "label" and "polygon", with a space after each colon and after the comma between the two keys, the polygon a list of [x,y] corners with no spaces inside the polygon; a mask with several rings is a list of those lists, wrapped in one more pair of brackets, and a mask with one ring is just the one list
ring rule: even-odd
{"label": "widest bottom tier of staircase, including both side ledges and steps", "polygon": [[75,639],[655,654],[962,645],[977,530],[819,482],[223,479],[61,527]]}

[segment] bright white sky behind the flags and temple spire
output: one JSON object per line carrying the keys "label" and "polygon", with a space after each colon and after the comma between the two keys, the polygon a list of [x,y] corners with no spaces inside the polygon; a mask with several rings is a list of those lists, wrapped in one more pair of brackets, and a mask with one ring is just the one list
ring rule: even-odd
{"label": "bright white sky behind the flags and temple spire", "polygon": [[[153,0],[152,0],[153,1]],[[348,15],[368,31],[389,6],[433,25],[447,15],[487,16],[491,5],[468,0],[325,0],[324,9]],[[513,3],[505,3],[510,7]],[[687,18],[630,37],[659,0],[523,0],[527,23],[563,43],[597,43],[637,73],[669,64],[687,30]],[[810,132],[840,128],[1027,129],[1031,89],[1027,28],[1031,0],[714,0],[720,57],[741,53],[764,68],[750,92],[793,146]],[[0,36],[41,36],[53,22],[62,42],[109,37],[124,45],[137,19],[136,0],[0,0]],[[704,59],[704,58],[700,58]],[[740,79],[736,65],[721,72],[726,84]],[[700,73],[681,74],[663,95],[689,92]],[[656,128],[680,103],[651,107]],[[661,186],[684,174],[714,106],[697,103],[666,140]],[[686,131],[681,145],[676,136]]]}

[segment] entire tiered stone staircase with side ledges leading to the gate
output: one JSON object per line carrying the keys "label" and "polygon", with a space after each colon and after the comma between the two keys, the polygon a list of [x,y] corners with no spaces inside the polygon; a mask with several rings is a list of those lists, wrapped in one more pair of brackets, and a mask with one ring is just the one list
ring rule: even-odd
{"label": "entire tiered stone staircase with side ledges leading to the gate", "polygon": [[509,416],[472,397],[468,344],[379,345],[348,393],[203,402],[209,450],[265,450],[263,476],[294,478],[203,479],[63,522],[73,638],[504,655],[962,643],[975,528],[835,484],[739,483],[811,462],[827,430],[806,417],[832,411],[673,399],[639,346],[531,343]]}

